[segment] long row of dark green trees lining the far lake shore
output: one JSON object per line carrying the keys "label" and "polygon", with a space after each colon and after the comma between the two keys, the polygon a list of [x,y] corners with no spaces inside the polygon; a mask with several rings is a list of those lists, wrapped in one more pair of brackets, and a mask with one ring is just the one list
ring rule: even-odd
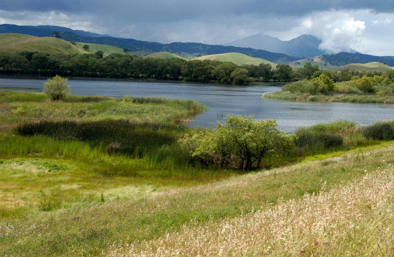
{"label": "long row of dark green trees lining the far lake shore", "polygon": [[47,75],[111,78],[153,78],[193,82],[217,81],[225,84],[249,84],[254,79],[288,81],[288,65],[272,69],[270,64],[244,64],[211,60],[186,61],[179,58],[167,60],[141,58],[136,55],[110,54],[44,54],[23,51],[18,54],[0,54],[0,72],[39,73]]}

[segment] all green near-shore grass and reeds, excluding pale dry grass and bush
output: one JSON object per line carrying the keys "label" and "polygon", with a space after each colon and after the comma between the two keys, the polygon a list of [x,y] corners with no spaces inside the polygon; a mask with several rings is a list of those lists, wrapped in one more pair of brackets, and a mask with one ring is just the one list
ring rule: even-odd
{"label": "all green near-shore grass and reeds, excluding pale dry grass and bush", "polygon": [[[134,256],[130,247],[269,210],[393,161],[394,122],[337,121],[298,129],[288,154],[252,171],[201,167],[178,142],[204,130],[185,124],[205,110],[191,100],[0,92],[1,255]],[[161,247],[156,256],[175,252]],[[180,256],[197,256],[192,248]]]}

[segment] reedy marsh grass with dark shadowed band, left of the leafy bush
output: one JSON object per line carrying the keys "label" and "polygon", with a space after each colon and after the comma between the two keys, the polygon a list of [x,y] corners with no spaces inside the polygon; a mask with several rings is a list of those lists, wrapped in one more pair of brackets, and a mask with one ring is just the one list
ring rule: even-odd
{"label": "reedy marsh grass with dark shadowed band, left of the leafy bush", "polygon": [[70,96],[48,101],[42,93],[1,93],[2,156],[84,158],[131,170],[186,169],[190,157],[177,141],[190,130],[184,123],[205,110],[190,100]]}

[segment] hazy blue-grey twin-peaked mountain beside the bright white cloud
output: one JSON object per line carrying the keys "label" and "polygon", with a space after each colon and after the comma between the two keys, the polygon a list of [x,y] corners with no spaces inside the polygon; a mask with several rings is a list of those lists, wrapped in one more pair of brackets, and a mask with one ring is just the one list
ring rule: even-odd
{"label": "hazy blue-grey twin-peaked mountain beside the bright white cloud", "polygon": [[251,47],[255,49],[263,49],[274,53],[284,53],[295,56],[316,56],[327,54],[326,51],[319,49],[322,40],[311,36],[301,35],[289,41],[282,41],[266,34],[256,34],[246,38],[241,38],[224,45],[232,45],[236,47]]}

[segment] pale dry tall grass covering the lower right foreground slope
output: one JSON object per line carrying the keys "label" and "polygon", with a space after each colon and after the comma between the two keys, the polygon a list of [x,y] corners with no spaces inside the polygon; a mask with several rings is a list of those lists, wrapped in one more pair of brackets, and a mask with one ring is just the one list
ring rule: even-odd
{"label": "pale dry tall grass covering the lower right foreground slope", "polygon": [[[384,164],[385,162],[383,162]],[[105,256],[393,256],[394,169],[228,221],[191,224]]]}

